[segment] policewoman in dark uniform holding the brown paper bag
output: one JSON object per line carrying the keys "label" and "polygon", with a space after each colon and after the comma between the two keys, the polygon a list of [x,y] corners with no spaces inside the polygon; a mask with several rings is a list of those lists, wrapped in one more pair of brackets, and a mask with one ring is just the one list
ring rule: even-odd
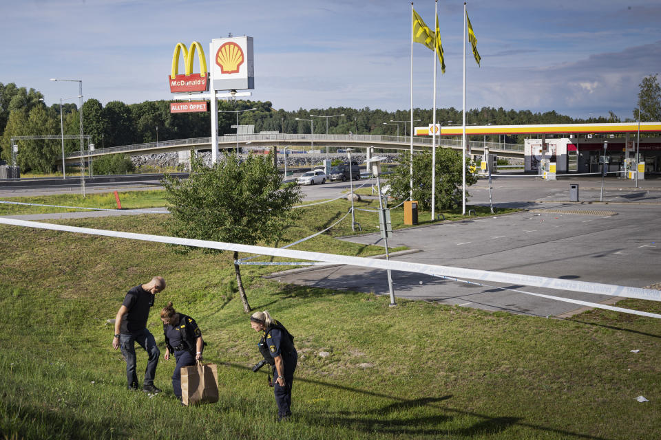
{"label": "policewoman in dark uniform holding the brown paper bag", "polygon": [[163,322],[163,335],[165,336],[165,360],[174,354],[177,364],[172,375],[172,389],[174,395],[181,400],[181,367],[195,365],[202,360],[202,332],[197,323],[190,316],[177,313],[172,303],[160,311],[160,320]]}

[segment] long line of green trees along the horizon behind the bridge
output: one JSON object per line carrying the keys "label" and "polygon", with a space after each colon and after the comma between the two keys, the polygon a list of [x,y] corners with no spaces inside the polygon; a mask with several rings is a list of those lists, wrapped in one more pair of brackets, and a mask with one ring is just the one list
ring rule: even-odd
{"label": "long line of green trees along the horizon behind the bridge", "polygon": [[[640,116],[641,120],[661,120],[661,91],[656,75],[647,76],[640,83]],[[140,144],[156,140],[175,140],[187,137],[207,137],[211,132],[211,122],[208,113],[170,113],[171,101],[145,101],[138,104],[125,104],[121,101],[111,101],[105,104],[92,98],[83,104],[83,131],[92,137],[91,142],[96,148]],[[638,104],[638,102],[636,102]],[[326,118],[311,118],[310,115],[343,115],[328,118],[329,134],[373,134],[397,135],[398,127],[395,121],[409,121],[410,111],[384,111],[380,109],[353,109],[350,107],[329,107],[327,109],[298,109],[285,111],[274,109],[270,101],[235,100],[218,103],[220,111],[244,111],[238,113],[240,125],[254,125],[255,133],[260,131],[278,131],[280,133],[311,133],[308,121],[313,119],[314,133],[326,133]],[[61,109],[61,110],[60,110]],[[633,110],[638,119],[638,106]],[[414,120],[421,120],[414,125],[426,125],[432,121],[431,109],[414,109]],[[461,109],[437,109],[437,121],[461,122]],[[60,124],[65,134],[76,135],[79,131],[78,106],[72,102],[60,102],[47,107],[43,94],[35,89],[17,87],[14,83],[0,83],[0,158],[10,162],[12,153],[10,139],[14,136],[26,135],[57,135]],[[386,122],[387,124],[384,124]],[[470,109],[466,113],[467,124],[568,124],[585,122],[620,122],[620,118],[612,111],[608,116],[597,118],[576,119],[562,115],[556,111],[543,113],[529,110],[515,111],[482,107]],[[236,113],[219,113],[218,133],[233,134],[236,124]],[[399,122],[399,134],[409,135],[410,124],[406,124],[406,133],[402,122]],[[497,135],[487,136],[487,140],[498,142]],[[504,142],[523,143],[523,135],[507,135]],[[39,140],[19,141],[17,161],[24,171],[50,173],[57,170],[61,163],[61,141]],[[65,153],[80,148],[78,140],[65,141]]]}

